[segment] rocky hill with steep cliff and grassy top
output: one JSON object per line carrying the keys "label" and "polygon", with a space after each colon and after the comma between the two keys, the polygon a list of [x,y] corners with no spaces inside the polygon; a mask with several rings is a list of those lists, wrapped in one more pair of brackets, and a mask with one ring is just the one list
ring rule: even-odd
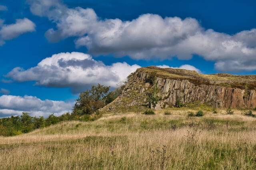
{"label": "rocky hill with steep cliff and grassy top", "polygon": [[[151,74],[156,75],[156,106],[148,101],[154,84]],[[185,106],[191,103],[209,103],[213,107],[255,107],[256,75],[199,74],[196,71],[158,68],[138,68],[129,76],[122,94],[104,107],[103,111],[140,111],[146,107],[161,109],[176,106],[177,101]]]}

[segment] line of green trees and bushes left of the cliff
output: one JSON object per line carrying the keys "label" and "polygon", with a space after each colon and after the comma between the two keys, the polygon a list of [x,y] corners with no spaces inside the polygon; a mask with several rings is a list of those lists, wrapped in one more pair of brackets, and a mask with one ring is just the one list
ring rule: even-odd
{"label": "line of green trees and bushes left of the cliff", "polygon": [[94,121],[101,117],[98,109],[114,101],[124,88],[120,83],[116,90],[109,92],[110,86],[98,84],[90,90],[81,92],[76,99],[72,112],[55,116],[54,113],[47,118],[43,116],[32,117],[30,113],[23,112],[21,116],[11,116],[0,119],[0,136],[13,136],[28,133],[34,129],[48,127],[61,121],[79,120]]}

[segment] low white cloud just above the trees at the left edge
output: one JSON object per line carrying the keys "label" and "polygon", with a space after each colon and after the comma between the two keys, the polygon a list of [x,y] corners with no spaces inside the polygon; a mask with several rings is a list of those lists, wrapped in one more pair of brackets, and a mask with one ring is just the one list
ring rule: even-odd
{"label": "low white cloud just above the trees at the left edge", "polygon": [[22,112],[29,112],[32,116],[45,116],[51,113],[61,115],[71,111],[74,103],[53,101],[53,100],[40,100],[34,96],[0,96],[0,117],[10,115],[21,115]]}

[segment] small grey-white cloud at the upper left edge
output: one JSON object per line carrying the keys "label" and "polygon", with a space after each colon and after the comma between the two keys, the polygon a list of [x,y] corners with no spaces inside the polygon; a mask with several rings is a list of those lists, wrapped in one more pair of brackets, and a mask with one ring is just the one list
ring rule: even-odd
{"label": "small grey-white cloud at the upper left edge", "polygon": [[0,19],[0,46],[4,45],[6,40],[14,39],[21,34],[36,31],[36,25],[28,18],[17,19],[13,24],[3,24],[4,20]]}

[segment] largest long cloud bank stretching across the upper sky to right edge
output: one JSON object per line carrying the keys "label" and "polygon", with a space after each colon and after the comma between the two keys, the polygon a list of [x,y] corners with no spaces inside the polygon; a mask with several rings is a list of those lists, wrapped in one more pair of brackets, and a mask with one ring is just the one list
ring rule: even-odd
{"label": "largest long cloud bank stretching across the upper sky to right edge", "polygon": [[215,61],[218,70],[256,70],[256,29],[228,35],[205,30],[193,18],[144,14],[132,21],[102,20],[90,8],[68,8],[60,0],[27,2],[33,14],[56,23],[56,29],[45,34],[49,41],[77,37],[76,47],[86,46],[94,55],[164,60],[191,59],[197,54]]}

